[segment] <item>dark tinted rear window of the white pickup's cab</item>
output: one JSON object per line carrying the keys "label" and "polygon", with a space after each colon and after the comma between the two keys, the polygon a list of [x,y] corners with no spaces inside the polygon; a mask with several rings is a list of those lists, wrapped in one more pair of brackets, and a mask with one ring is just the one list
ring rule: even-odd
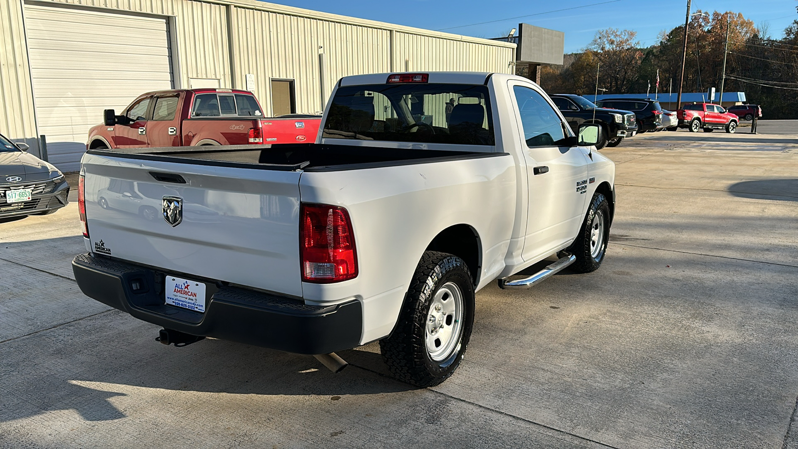
{"label": "dark tinted rear window of the white pickup's cab", "polygon": [[496,145],[488,87],[385,84],[339,88],[322,137]]}

